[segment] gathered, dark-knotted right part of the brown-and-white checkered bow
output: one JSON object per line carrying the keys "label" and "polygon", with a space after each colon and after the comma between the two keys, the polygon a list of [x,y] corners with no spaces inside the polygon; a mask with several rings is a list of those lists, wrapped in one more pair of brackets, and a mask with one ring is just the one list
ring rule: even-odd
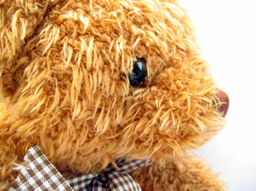
{"label": "gathered, dark-knotted right part of the brown-and-white checkered bow", "polygon": [[[145,160],[125,161],[125,159],[116,160],[117,168],[110,164],[104,172],[99,174],[87,174],[67,182],[74,191],[139,191],[140,185],[129,175],[132,170],[146,165]],[[148,162],[147,165],[150,165]]]}

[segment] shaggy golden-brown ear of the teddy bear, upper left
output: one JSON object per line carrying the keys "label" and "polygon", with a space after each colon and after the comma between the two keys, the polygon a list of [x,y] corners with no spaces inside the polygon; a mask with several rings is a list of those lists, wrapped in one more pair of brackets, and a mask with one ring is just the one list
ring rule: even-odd
{"label": "shaggy golden-brown ear of the teddy bear, upper left", "polygon": [[0,1],[0,102],[15,93],[19,80],[15,71],[22,50],[54,4],[55,0]]}

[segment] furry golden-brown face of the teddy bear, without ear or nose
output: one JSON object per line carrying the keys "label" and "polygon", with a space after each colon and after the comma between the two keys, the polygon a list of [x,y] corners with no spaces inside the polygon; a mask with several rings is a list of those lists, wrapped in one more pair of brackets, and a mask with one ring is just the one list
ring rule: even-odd
{"label": "furry golden-brown face of the teddy bear, without ear or nose", "polygon": [[[19,152],[38,144],[61,171],[95,172],[120,157],[164,162],[222,126],[176,1],[51,3],[16,60],[6,123]],[[147,75],[133,86],[140,59]]]}

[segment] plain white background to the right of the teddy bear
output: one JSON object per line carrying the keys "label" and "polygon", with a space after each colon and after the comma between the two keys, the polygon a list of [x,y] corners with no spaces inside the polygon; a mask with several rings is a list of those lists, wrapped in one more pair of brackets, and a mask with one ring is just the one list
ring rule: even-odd
{"label": "plain white background to the right of the teddy bear", "polygon": [[256,191],[256,2],[180,0],[212,76],[230,99],[225,128],[195,151],[228,190]]}

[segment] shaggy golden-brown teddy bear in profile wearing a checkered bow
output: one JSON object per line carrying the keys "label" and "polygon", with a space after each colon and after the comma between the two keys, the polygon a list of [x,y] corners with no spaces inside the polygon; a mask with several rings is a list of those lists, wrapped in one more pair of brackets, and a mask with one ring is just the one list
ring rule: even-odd
{"label": "shaggy golden-brown teddy bear in profile wearing a checkered bow", "polygon": [[0,18],[0,190],[21,189],[33,148],[64,190],[224,189],[191,149],[228,97],[176,0],[2,0]]}

